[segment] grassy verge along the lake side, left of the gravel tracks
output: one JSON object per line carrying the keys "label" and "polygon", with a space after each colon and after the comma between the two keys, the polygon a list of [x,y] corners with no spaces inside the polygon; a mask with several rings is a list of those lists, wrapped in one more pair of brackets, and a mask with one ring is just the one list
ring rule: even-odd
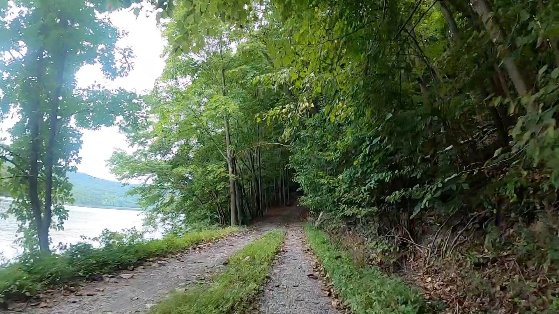
{"label": "grassy verge along the lake side, left of the gravel tracks", "polygon": [[165,237],[135,244],[110,245],[94,249],[90,244],[73,245],[63,254],[24,254],[18,261],[0,268],[0,303],[23,299],[41,289],[68,283],[77,277],[91,277],[126,269],[155,256],[177,253],[202,242],[238,231],[237,227],[189,232],[182,237]]}

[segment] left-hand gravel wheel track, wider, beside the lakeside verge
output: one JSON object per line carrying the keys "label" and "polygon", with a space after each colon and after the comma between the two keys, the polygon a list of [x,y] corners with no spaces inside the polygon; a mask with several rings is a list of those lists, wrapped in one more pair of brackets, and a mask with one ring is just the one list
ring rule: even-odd
{"label": "left-hand gravel wheel track, wider, beside the lakeside verge", "polygon": [[[267,227],[267,226],[266,226]],[[120,274],[133,274],[129,279],[117,274],[114,278],[87,283],[77,287],[78,293],[62,296],[60,292],[49,296],[52,307],[28,306],[23,313],[35,314],[129,314],[145,313],[169,291],[188,287],[191,283],[203,281],[236,250],[243,248],[264,229],[243,232],[217,240],[208,248],[187,251],[172,257],[156,260],[142,268]],[[125,275],[125,277],[127,277]],[[68,291],[65,291],[68,294]],[[94,294],[76,296],[75,294]],[[43,303],[43,305],[46,305]],[[2,312],[2,311],[0,311]]]}

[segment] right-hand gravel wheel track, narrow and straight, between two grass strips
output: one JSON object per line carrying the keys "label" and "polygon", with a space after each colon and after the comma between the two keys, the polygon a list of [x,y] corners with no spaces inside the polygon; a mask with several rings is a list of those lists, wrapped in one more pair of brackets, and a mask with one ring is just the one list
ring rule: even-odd
{"label": "right-hand gravel wheel track, narrow and straight, between two grass strips", "polygon": [[304,239],[300,223],[290,223],[283,249],[274,261],[271,280],[260,296],[260,314],[338,313],[312,271]]}

